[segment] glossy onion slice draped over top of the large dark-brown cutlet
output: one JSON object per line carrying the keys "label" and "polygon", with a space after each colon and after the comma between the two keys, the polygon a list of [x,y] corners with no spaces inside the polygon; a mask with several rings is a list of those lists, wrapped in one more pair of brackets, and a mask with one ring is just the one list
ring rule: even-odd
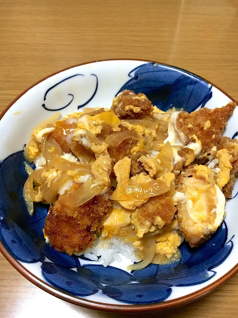
{"label": "glossy onion slice draped over top of the large dark-brown cutlet", "polygon": [[74,208],[98,195],[102,191],[103,186],[96,186],[94,182],[94,177],[90,176],[78,190],[67,195],[65,203],[71,208]]}

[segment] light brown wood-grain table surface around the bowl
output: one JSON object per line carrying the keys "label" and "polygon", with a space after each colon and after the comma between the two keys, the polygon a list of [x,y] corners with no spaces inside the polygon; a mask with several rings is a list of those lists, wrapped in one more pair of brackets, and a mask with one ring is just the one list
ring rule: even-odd
{"label": "light brown wood-grain table surface around the bowl", "polygon": [[[182,67],[238,100],[237,0],[0,0],[0,110],[38,79],[97,59]],[[148,318],[237,317],[238,276],[187,306]],[[142,317],[142,315],[133,315]],[[121,317],[61,301],[0,255],[0,317]]]}

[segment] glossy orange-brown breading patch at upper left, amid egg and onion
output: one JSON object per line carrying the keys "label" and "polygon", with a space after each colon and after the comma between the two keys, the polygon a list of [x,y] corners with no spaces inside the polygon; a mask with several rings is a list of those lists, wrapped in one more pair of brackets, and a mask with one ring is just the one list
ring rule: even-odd
{"label": "glossy orange-brown breading patch at upper left, amid egg and onion", "polygon": [[[66,154],[73,153],[70,148],[69,142],[71,130],[76,128],[76,123],[69,124],[69,122],[67,122],[66,119],[63,121],[56,121],[54,127],[55,130],[53,130],[53,132],[50,135],[60,145],[61,149]],[[68,135],[68,138],[66,138],[66,135]]]}

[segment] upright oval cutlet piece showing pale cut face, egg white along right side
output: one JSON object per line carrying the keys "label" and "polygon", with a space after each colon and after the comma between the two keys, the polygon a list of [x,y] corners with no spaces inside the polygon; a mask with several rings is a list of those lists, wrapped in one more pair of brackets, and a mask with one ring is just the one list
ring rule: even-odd
{"label": "upright oval cutlet piece showing pale cut face, egg white along right side", "polygon": [[193,165],[176,180],[179,228],[195,247],[210,238],[223,220],[225,197],[215,184],[215,175],[206,166]]}

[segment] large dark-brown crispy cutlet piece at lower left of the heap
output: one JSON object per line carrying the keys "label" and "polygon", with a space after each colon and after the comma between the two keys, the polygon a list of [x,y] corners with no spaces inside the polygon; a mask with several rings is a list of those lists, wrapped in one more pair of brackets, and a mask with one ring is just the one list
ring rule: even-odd
{"label": "large dark-brown crispy cutlet piece at lower left of the heap", "polygon": [[96,239],[95,232],[101,230],[103,219],[112,206],[109,195],[105,194],[95,196],[76,208],[70,208],[64,203],[65,197],[80,186],[74,183],[69,191],[60,195],[51,205],[45,220],[44,235],[48,237],[50,245],[69,255],[92,247]]}

